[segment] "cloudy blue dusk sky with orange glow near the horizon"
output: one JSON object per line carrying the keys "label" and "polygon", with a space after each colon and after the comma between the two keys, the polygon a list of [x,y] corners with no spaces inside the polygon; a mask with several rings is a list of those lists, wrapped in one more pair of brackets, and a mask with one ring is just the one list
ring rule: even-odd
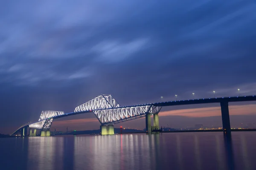
{"label": "cloudy blue dusk sky with orange glow near the horizon", "polygon": [[[100,94],[120,105],[256,94],[255,0],[5,1],[0,16],[0,133]],[[238,105],[234,115],[256,114],[255,102]],[[218,105],[169,107],[162,119],[174,115],[220,113]],[[99,127],[93,115],[53,127],[76,121]]]}

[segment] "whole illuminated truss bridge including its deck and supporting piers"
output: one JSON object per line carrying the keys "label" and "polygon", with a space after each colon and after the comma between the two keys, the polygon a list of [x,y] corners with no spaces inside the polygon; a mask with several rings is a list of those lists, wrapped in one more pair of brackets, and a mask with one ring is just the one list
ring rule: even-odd
{"label": "whole illuminated truss bridge including its deck and supporting piers", "polygon": [[[99,120],[102,135],[114,134],[114,124],[126,122],[134,119],[145,117],[146,132],[151,129],[159,129],[158,113],[164,106],[175,105],[195,105],[206,103],[220,103],[223,130],[226,133],[231,132],[229,102],[246,102],[256,101],[256,96],[233,96],[221,98],[203,98],[175,100],[169,102],[148,103],[143,105],[120,106],[119,103],[111,95],[101,94],[82,105],[75,108],[72,113],[64,113],[63,111],[42,111],[38,121],[22,125],[15,130],[12,135],[20,132],[21,136],[26,136],[27,128],[30,128],[29,136],[35,136],[36,130],[41,130],[41,136],[50,136],[50,127],[54,119],[73,116],[84,113],[94,113]],[[154,126],[151,126],[151,115],[154,116]],[[32,131],[34,129],[34,131]]]}

